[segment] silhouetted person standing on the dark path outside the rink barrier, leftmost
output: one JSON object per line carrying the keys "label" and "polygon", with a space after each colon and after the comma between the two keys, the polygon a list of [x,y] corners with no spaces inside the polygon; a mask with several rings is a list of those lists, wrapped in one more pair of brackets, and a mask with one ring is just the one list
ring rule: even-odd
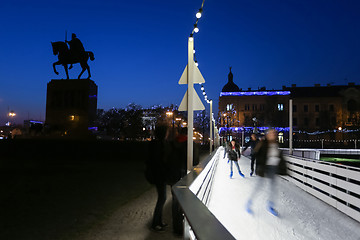
{"label": "silhouetted person standing on the dark path outside the rink barrier, leftmost", "polygon": [[166,141],[167,127],[158,125],[155,128],[155,140],[150,142],[149,158],[146,161],[145,176],[156,187],[158,199],[154,209],[151,229],[162,232],[167,226],[162,221],[163,208],[166,202],[166,153],[168,142]]}

